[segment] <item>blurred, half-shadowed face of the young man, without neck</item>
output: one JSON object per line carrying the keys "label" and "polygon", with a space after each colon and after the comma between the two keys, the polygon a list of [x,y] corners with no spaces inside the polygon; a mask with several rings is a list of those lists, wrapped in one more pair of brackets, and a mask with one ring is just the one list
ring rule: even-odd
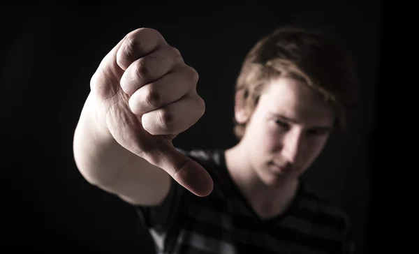
{"label": "blurred, half-shadowed face of the young man, without neck", "polygon": [[270,186],[300,177],[323,150],[334,123],[320,94],[287,77],[270,82],[251,116],[236,108],[235,117],[249,119],[240,145],[251,170]]}

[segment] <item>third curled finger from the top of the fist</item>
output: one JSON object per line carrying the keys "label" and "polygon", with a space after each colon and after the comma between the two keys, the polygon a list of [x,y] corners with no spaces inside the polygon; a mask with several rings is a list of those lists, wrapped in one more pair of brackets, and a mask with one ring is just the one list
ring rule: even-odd
{"label": "third curled finger from the top of the fist", "polygon": [[168,73],[159,80],[141,87],[129,98],[131,111],[138,116],[174,103],[186,94],[198,82],[198,74],[186,68],[186,71]]}

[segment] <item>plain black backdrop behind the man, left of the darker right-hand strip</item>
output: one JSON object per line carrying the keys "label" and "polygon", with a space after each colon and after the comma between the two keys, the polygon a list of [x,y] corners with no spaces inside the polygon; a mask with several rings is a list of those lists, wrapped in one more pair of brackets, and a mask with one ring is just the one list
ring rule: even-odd
{"label": "plain black backdrop behind the man, left of the darker right-hand strip", "polygon": [[[244,55],[281,24],[325,28],[357,63],[362,103],[348,133],[332,136],[306,177],[348,212],[359,253],[370,253],[376,190],[378,84],[383,81],[380,1],[293,1],[3,8],[1,128],[5,167],[3,243],[44,253],[153,253],[135,211],[87,184],[73,160],[73,131],[101,59],[138,27],[161,31],[198,70],[206,113],[174,141],[226,148],[233,137],[233,86]],[[11,18],[10,18],[11,17]],[[374,184],[374,185],[373,185]]]}

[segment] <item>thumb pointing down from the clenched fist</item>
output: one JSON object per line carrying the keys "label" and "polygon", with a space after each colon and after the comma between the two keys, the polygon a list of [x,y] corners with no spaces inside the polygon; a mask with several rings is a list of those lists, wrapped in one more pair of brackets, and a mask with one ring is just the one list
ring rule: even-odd
{"label": "thumb pointing down from the clenched fist", "polygon": [[195,195],[207,196],[214,188],[207,170],[195,160],[177,151],[171,143],[156,144],[143,158],[168,172],[175,181]]}

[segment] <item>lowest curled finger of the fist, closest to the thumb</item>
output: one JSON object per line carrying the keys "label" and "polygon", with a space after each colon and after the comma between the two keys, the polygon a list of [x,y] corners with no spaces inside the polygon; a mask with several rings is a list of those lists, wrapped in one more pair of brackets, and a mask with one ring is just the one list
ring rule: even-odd
{"label": "lowest curled finger of the fist, closest to the thumb", "polygon": [[142,128],[152,135],[175,135],[196,124],[204,112],[204,100],[198,94],[188,95],[159,110],[143,114]]}

